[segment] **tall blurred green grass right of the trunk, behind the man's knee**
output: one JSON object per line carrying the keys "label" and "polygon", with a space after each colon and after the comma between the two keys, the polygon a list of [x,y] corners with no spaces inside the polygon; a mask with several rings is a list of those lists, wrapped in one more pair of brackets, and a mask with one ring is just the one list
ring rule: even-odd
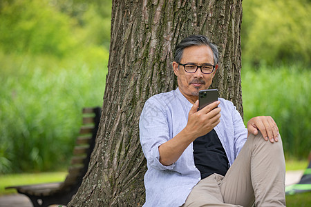
{"label": "tall blurred green grass right of the trunk, behind the man's knee", "polygon": [[287,158],[307,158],[311,150],[311,71],[299,66],[242,68],[245,124],[270,115],[279,126]]}

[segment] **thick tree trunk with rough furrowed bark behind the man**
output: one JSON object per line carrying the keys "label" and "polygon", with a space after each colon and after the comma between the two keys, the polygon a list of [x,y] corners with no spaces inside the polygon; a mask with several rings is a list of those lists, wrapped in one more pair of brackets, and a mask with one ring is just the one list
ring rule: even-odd
{"label": "thick tree trunk with rough furrowed bark behind the man", "polygon": [[176,89],[176,44],[205,34],[220,52],[213,88],[242,113],[241,1],[113,1],[109,72],[100,129],[82,186],[68,206],[142,206],[138,122],[144,102]]}

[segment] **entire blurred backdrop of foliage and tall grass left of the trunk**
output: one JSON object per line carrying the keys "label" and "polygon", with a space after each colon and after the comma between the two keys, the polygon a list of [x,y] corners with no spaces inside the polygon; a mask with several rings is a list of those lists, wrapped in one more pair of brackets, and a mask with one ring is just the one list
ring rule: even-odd
{"label": "entire blurred backdrop of foliage and tall grass left of the trunk", "polygon": [[102,106],[111,1],[0,1],[0,173],[64,168]]}

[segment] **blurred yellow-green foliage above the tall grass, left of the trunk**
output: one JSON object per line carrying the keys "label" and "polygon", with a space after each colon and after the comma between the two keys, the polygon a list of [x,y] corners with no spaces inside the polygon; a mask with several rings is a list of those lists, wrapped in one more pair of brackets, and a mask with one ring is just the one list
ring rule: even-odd
{"label": "blurred yellow-green foliage above the tall grass, left of the trunk", "polygon": [[6,53],[57,57],[84,50],[84,46],[109,49],[111,12],[108,11],[111,11],[111,1],[107,0],[101,3],[3,0],[0,3],[0,48]]}

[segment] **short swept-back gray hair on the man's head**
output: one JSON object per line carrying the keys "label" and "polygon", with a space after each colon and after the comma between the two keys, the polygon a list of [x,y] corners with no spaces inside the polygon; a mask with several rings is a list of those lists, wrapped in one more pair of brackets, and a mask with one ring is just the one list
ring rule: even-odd
{"label": "short swept-back gray hair on the man's head", "polygon": [[211,43],[208,37],[203,35],[191,35],[185,39],[182,39],[182,41],[180,41],[180,43],[175,48],[174,61],[180,63],[182,59],[182,52],[185,48],[202,45],[209,46],[209,48],[211,48],[211,51],[213,51],[214,54],[214,65],[216,66],[219,58],[217,46]]}

